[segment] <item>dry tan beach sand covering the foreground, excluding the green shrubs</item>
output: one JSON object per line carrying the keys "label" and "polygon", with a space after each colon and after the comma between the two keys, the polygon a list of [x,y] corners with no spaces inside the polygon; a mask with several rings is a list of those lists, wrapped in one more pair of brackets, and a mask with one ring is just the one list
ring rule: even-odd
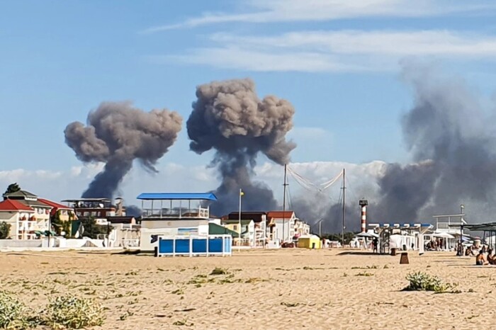
{"label": "dry tan beach sand covering the foreground, excluding the green shrubs", "polygon": [[[357,253],[0,254],[0,283],[32,307],[67,291],[96,297],[107,308],[99,329],[496,329],[496,266],[452,252],[410,252],[407,265]],[[209,275],[216,267],[228,274]],[[461,293],[401,291],[413,271],[458,283]]]}

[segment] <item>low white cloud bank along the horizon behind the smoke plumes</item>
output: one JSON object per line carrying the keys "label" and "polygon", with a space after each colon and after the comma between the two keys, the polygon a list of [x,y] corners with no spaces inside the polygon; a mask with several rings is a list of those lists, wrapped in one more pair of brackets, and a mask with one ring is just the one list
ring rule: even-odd
{"label": "low white cloud bank along the horizon behind the smoke plumes", "polygon": [[[375,178],[381,175],[382,161],[368,164],[349,164],[332,161],[290,164],[294,171],[311,181],[321,182],[332,178],[346,167],[349,184],[360,191],[373,190]],[[28,171],[14,169],[0,171],[0,187],[4,190],[10,183],[17,182],[21,188],[51,200],[78,198],[87,188],[96,173],[97,166],[74,167],[67,171]],[[164,164],[159,173],[150,174],[139,168],[133,168],[120,185],[120,195],[128,205],[137,204],[136,196],[143,192],[205,192],[215,190],[219,185],[216,169],[207,166],[184,166],[174,163]],[[262,181],[274,189],[274,195],[282,200],[281,181],[283,167],[271,162],[259,164],[255,168],[254,181]],[[291,180],[291,178],[290,178]],[[363,182],[367,185],[363,186]],[[293,196],[303,193],[303,188],[292,180]],[[56,187],[56,189],[54,189]],[[372,188],[371,188],[372,187]],[[281,191],[280,191],[281,190]],[[3,190],[2,190],[3,191]],[[339,193],[339,187],[337,187]]]}

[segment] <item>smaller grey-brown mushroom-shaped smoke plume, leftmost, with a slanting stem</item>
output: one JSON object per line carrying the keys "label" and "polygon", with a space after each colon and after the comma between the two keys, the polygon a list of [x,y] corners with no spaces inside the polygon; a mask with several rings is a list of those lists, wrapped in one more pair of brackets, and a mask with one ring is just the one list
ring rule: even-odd
{"label": "smaller grey-brown mushroom-shaped smoke plume, leftmost, with a slanting stem", "polygon": [[87,125],[74,122],[64,130],[65,142],[84,162],[103,161],[105,168],[84,191],[84,198],[112,198],[137,159],[145,169],[174,144],[181,116],[169,110],[147,113],[130,102],[104,102],[88,115]]}

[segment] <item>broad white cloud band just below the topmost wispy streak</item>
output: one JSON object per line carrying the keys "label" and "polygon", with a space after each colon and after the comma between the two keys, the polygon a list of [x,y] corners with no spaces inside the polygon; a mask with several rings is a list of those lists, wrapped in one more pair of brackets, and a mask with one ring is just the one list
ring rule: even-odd
{"label": "broad white cloud band just below the topmost wispy streak", "polygon": [[282,35],[210,36],[215,46],[154,61],[260,72],[384,72],[405,57],[496,59],[496,37],[450,30],[305,31]]}

